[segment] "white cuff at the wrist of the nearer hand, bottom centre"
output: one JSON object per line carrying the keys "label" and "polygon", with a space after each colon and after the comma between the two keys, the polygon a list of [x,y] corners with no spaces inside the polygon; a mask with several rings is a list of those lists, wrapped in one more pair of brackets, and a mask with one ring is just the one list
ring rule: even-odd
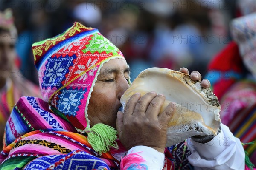
{"label": "white cuff at the wrist of the nearer hand, bottom centre", "polygon": [[135,146],[132,147],[127,155],[131,153],[137,153],[145,161],[141,164],[145,164],[148,170],[162,170],[164,166],[164,154],[157,150],[147,146]]}

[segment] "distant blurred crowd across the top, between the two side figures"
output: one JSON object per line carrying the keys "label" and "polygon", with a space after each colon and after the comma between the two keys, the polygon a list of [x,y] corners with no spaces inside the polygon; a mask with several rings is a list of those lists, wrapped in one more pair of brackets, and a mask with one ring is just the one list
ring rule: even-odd
{"label": "distant blurred crowd across the top, between the two side figures", "polygon": [[[1,0],[14,12],[20,71],[37,83],[31,45],[79,21],[96,27],[125,55],[131,80],[148,67],[187,67],[202,76],[230,42],[229,22],[254,0]],[[248,9],[248,5],[249,9]],[[252,9],[250,9],[252,8]]]}

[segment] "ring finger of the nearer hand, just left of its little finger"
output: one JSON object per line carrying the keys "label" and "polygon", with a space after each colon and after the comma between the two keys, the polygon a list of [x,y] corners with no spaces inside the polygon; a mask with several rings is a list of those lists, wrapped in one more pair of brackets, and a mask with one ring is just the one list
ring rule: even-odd
{"label": "ring finger of the nearer hand, just left of its little finger", "polygon": [[146,115],[157,118],[164,101],[165,101],[165,96],[163,94],[158,94],[150,102],[148,109],[146,111]]}

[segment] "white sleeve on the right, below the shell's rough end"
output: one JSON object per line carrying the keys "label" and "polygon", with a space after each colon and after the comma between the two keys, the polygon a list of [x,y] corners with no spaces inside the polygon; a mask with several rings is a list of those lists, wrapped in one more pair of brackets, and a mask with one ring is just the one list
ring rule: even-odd
{"label": "white sleeve on the right, below the shell's rough end", "polygon": [[226,125],[221,124],[221,132],[206,144],[187,142],[192,153],[188,160],[195,170],[244,170],[244,148]]}

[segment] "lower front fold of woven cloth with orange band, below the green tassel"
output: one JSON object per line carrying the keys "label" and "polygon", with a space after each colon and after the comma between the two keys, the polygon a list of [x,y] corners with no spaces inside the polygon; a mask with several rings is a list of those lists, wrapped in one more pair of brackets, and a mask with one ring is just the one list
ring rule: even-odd
{"label": "lower front fold of woven cloth with orange band, below the green tassel", "polygon": [[[118,169],[119,166],[110,153],[104,153],[99,157],[85,136],[50,129],[37,130],[21,136],[2,151],[1,161],[3,162],[0,168],[3,170],[32,167],[39,169],[88,167],[92,170],[100,169],[99,167]],[[32,163],[27,164],[30,161]]]}

